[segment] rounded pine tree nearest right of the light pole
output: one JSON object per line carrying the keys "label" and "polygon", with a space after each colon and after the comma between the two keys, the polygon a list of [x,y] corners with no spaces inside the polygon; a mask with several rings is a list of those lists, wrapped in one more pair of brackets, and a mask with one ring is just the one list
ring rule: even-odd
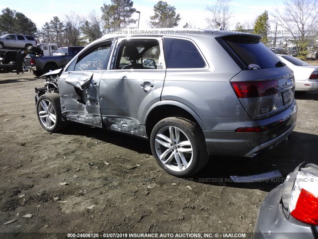
{"label": "rounded pine tree nearest right of the light pole", "polygon": [[155,15],[151,16],[152,27],[175,27],[179,25],[180,14],[176,14],[175,7],[168,5],[166,1],[159,1],[154,6]]}

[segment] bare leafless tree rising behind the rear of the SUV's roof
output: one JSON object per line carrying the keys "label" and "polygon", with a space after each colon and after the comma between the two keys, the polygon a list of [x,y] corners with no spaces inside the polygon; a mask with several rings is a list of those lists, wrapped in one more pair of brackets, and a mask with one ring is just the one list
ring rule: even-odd
{"label": "bare leafless tree rising behind the rear of the SUV's roof", "polygon": [[227,30],[230,27],[231,0],[216,0],[213,5],[207,5],[206,9],[211,12],[211,16],[205,18],[210,28],[222,27]]}

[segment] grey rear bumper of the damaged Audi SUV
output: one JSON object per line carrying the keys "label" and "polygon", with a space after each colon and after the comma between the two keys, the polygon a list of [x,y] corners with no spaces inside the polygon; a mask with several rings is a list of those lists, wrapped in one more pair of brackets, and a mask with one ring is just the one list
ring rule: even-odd
{"label": "grey rear bumper of the damaged Audi SUV", "polygon": [[284,120],[281,125],[262,132],[240,133],[234,130],[203,130],[208,152],[211,155],[254,157],[265,150],[272,149],[287,138],[295,128],[297,119],[296,101],[289,108],[273,117],[251,120],[250,125],[244,121],[244,125],[241,127],[263,126],[280,119]]}

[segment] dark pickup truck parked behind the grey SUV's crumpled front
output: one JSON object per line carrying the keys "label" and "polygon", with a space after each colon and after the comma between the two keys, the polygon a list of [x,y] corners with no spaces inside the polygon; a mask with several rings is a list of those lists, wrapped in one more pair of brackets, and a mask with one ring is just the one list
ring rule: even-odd
{"label": "dark pickup truck parked behind the grey SUV's crumpled front", "polygon": [[60,47],[55,56],[31,56],[30,64],[35,76],[41,76],[47,72],[64,68],[69,61],[76,56],[83,46]]}

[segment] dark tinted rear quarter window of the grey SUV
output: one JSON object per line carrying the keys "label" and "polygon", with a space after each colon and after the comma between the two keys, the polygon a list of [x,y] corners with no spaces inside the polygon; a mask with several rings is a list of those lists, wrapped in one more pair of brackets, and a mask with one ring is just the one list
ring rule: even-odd
{"label": "dark tinted rear quarter window of the grey SUV", "polygon": [[205,62],[193,42],[184,39],[164,38],[167,68],[204,68]]}

